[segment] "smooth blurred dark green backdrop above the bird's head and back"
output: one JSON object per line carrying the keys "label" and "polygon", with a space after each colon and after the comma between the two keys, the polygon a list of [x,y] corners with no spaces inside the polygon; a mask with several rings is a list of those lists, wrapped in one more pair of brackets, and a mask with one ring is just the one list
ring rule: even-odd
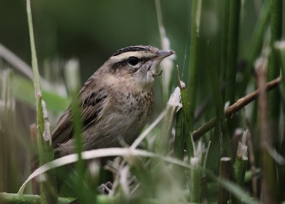
{"label": "smooth blurred dark green backdrop above the bird's head and back", "polygon": [[[0,1],[0,41],[30,64],[26,1]],[[162,1],[172,48],[184,57],[190,1]],[[83,79],[129,45],[160,46],[155,1],[32,1],[40,68],[52,58],[80,60]],[[181,50],[181,53],[180,51]]]}

